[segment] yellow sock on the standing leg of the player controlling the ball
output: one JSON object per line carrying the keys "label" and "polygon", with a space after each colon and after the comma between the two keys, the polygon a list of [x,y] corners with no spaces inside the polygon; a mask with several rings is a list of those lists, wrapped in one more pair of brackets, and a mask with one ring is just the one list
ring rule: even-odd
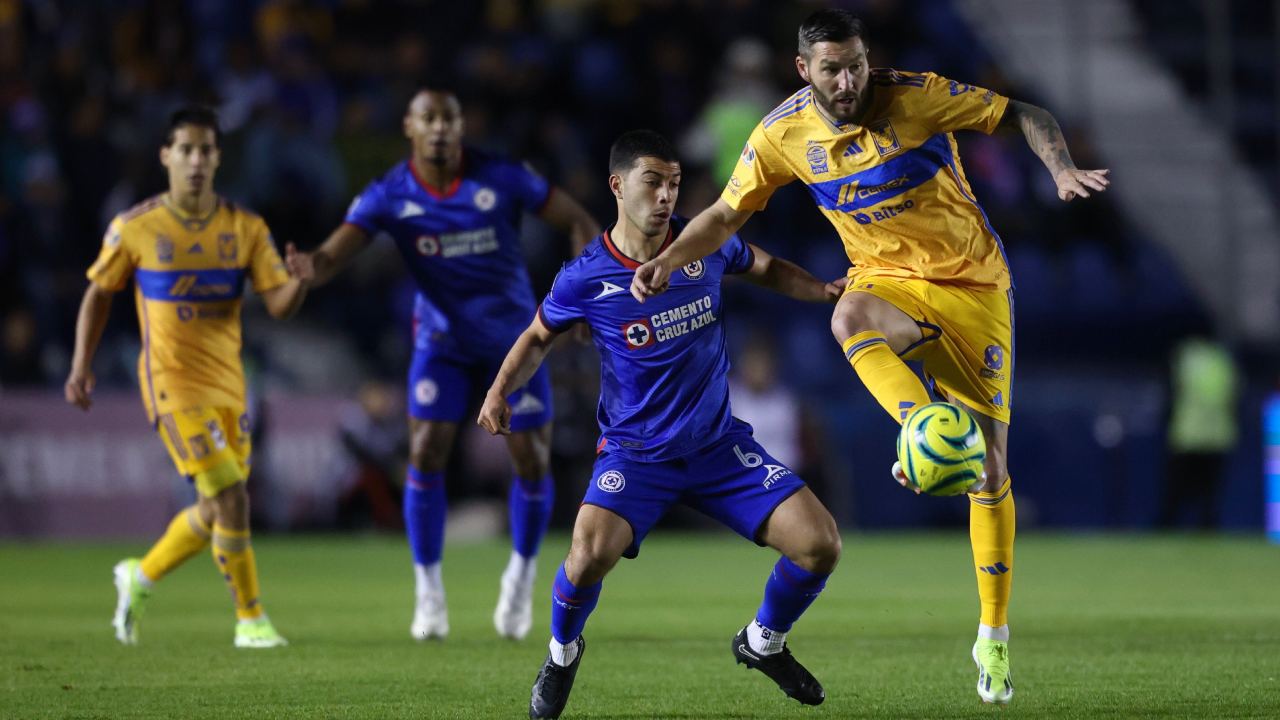
{"label": "yellow sock on the standing leg of the player controlling the ball", "polygon": [[1014,584],[1014,491],[1009,478],[996,492],[969,496],[969,542],[978,574],[982,624],[1009,623],[1009,593]]}

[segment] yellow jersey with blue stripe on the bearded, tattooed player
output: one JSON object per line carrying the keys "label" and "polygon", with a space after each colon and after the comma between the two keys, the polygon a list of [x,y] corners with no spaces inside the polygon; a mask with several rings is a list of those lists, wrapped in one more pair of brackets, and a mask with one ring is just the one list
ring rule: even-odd
{"label": "yellow jersey with blue stripe on the bearded, tattooed player", "polygon": [[1007,104],[933,73],[876,68],[861,124],[835,126],[806,86],[755,127],[721,197],[760,210],[776,188],[800,179],[860,273],[1007,290],[1000,236],[951,135],[991,133]]}

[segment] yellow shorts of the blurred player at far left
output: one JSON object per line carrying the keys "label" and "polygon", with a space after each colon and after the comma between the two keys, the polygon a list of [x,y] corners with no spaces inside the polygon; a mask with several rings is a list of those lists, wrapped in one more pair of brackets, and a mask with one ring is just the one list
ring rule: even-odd
{"label": "yellow shorts of the blurred player at far left", "polygon": [[239,409],[195,406],[160,415],[156,429],[178,471],[205,497],[248,478],[248,415]]}

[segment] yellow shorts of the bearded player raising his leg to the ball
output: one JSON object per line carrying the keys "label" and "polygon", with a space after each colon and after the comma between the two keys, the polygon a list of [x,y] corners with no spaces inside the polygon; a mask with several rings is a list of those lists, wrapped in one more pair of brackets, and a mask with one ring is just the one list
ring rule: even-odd
{"label": "yellow shorts of the bearded player raising his leg to the ball", "polygon": [[982,291],[916,278],[849,270],[845,292],[868,292],[906,313],[924,337],[904,360],[919,360],[943,393],[1009,423],[1014,378],[1012,291]]}

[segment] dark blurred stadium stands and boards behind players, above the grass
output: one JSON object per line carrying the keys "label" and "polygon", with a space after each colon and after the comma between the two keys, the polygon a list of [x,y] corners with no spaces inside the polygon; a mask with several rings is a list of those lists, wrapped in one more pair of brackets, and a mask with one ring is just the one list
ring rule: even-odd
{"label": "dark blurred stadium stands and boards behind players, above the grass", "polygon": [[[846,5],[869,23],[873,64],[1042,104],[1080,167],[1112,168],[1111,192],[1065,205],[1016,133],[960,137],[1018,286],[1020,527],[1261,532],[1263,407],[1280,380],[1280,3]],[[608,143],[626,128],[664,132],[680,142],[692,215],[750,127],[799,85],[794,32],[815,6],[0,0],[0,537],[148,536],[187,497],[143,420],[128,295],[99,351],[97,406],[82,415],[60,398],[84,269],[111,215],[163,190],[156,147],[179,102],[220,109],[220,191],[303,249],[406,154],[403,106],[425,82],[461,92],[470,142],[527,159],[605,223]],[[525,234],[543,292],[567,241],[535,220]],[[844,272],[797,186],[745,234],[819,275]],[[259,528],[398,527],[411,297],[383,245],[294,322],[246,313]],[[728,307],[740,414],[844,527],[964,521],[963,501],[916,502],[886,482],[893,425],[822,309],[740,287]],[[1229,352],[1213,372],[1234,392],[1178,396],[1171,359],[1192,336]],[[589,479],[595,352],[563,343],[552,364],[563,525]],[[1162,518],[1179,400],[1226,404],[1238,433],[1220,442],[1219,500],[1187,497],[1185,516]],[[475,510],[456,530],[502,530],[508,470],[493,448],[471,432],[456,455],[451,501]],[[1192,512],[1212,502],[1211,518]]]}

